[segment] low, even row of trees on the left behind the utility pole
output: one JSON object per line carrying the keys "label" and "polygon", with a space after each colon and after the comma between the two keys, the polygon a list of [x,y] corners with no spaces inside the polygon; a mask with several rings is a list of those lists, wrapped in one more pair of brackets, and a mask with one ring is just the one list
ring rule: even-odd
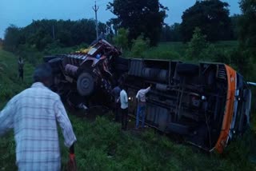
{"label": "low, even row of trees on the left behind the utility pole", "polygon": [[[106,24],[99,22],[99,32],[106,33]],[[85,34],[86,33],[86,34]],[[78,46],[95,40],[93,19],[78,21],[46,20],[33,21],[24,28],[11,25],[6,29],[3,48],[11,52],[20,51],[20,46],[45,50],[47,46]],[[52,45],[53,44],[53,45]]]}

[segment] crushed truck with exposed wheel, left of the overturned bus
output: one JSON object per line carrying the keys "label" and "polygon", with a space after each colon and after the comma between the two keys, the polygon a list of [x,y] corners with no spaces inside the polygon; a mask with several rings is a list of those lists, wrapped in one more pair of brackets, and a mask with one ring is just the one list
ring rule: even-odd
{"label": "crushed truck with exposed wheel, left of the overturned bus", "polygon": [[110,105],[110,91],[117,84],[114,59],[121,53],[102,40],[89,49],[73,54],[46,56],[53,69],[52,89],[69,105],[79,108],[90,105]]}

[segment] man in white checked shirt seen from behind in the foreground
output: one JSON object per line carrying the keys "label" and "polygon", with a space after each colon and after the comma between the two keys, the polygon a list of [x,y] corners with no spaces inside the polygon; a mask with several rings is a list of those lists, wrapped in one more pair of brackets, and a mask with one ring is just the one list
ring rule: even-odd
{"label": "man in white checked shirt seen from behind in the foreground", "polygon": [[47,87],[51,68],[47,64],[34,71],[34,84],[14,96],[0,112],[0,136],[14,128],[18,170],[60,170],[58,125],[64,144],[70,148],[69,165],[75,168],[72,125],[57,93]]}

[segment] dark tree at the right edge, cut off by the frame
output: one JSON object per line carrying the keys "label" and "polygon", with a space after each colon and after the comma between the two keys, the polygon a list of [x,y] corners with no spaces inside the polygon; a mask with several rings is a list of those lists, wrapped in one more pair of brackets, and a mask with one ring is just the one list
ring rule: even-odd
{"label": "dark tree at the right edge, cut off by the frame", "polygon": [[256,61],[256,1],[239,2],[242,15],[238,19],[239,49],[231,55],[231,61],[247,78],[254,80]]}

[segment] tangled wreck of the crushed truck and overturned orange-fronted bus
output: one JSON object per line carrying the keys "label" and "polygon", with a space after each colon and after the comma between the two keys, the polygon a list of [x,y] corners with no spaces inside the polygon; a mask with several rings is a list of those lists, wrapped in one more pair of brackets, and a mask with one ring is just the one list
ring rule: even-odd
{"label": "tangled wreck of the crushed truck and overturned orange-fronted bus", "polygon": [[44,61],[54,71],[52,89],[77,107],[111,106],[111,89],[124,84],[135,116],[136,93],[152,85],[146,124],[208,151],[222,153],[250,124],[251,91],[242,75],[223,63],[122,58],[105,40]]}

